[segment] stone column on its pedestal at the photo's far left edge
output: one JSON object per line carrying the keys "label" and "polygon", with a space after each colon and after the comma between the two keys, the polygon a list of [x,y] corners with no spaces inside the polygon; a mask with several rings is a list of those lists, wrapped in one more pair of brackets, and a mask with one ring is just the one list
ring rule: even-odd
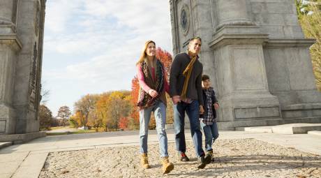
{"label": "stone column on its pedestal at the photo's far left edge", "polygon": [[13,108],[13,85],[17,52],[20,40],[15,34],[17,1],[0,3],[0,134],[15,133],[15,109]]}

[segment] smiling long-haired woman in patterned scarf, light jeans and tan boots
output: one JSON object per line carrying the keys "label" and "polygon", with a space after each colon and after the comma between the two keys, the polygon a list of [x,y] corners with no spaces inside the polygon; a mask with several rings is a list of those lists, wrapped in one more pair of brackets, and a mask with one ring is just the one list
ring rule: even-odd
{"label": "smiling long-haired woman in patterned scarf, light jeans and tan boots", "polygon": [[140,93],[137,106],[140,108],[140,163],[143,168],[150,168],[147,158],[148,125],[151,112],[154,112],[156,130],[159,141],[159,151],[163,173],[167,174],[174,169],[173,163],[168,160],[166,123],[166,96],[169,85],[165,77],[163,64],[156,59],[156,43],[148,40],[136,64],[137,78],[140,83]]}

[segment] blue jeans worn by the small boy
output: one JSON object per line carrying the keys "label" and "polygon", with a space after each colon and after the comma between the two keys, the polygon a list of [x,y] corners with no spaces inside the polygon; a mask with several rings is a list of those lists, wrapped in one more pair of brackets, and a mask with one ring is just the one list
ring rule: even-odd
{"label": "blue jeans worn by the small boy", "polygon": [[215,142],[216,138],[218,138],[217,124],[214,122],[212,125],[206,125],[201,121],[200,126],[205,135],[205,149],[206,151],[211,151],[213,150],[211,145]]}

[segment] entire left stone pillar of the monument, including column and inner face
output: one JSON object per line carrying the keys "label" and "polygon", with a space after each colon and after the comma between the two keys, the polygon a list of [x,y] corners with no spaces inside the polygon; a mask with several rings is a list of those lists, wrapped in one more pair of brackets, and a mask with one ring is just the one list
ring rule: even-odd
{"label": "entire left stone pillar of the monument, including column and inner face", "polygon": [[0,142],[39,133],[38,105],[45,0],[0,3]]}

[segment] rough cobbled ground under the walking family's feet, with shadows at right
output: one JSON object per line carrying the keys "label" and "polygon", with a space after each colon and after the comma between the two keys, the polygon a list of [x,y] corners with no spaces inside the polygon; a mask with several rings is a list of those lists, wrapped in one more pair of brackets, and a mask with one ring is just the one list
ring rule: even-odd
{"label": "rough cobbled ground under the walking family's feet, with shadows at right", "polygon": [[192,142],[186,154],[190,162],[178,161],[169,143],[174,170],[161,173],[158,144],[149,144],[151,169],[140,168],[137,146],[54,152],[47,157],[39,177],[321,177],[321,156],[254,139],[217,140],[214,162],[196,168]]}

